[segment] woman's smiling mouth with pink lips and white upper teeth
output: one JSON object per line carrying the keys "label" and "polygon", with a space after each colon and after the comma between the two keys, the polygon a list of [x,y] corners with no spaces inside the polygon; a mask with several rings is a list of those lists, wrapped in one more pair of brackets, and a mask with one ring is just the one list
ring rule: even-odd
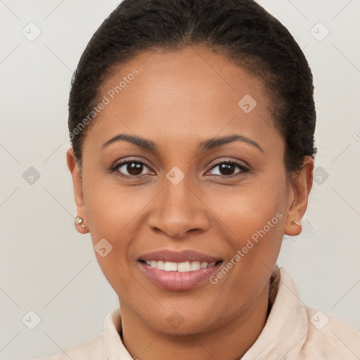
{"label": "woman's smiling mouth with pink lips and white upper teeth", "polygon": [[141,255],[138,263],[148,280],[166,290],[189,290],[204,283],[223,260],[200,252],[160,251]]}

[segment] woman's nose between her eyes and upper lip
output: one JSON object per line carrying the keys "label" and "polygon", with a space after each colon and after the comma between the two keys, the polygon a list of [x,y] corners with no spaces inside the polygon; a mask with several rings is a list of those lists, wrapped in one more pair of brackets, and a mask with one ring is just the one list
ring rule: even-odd
{"label": "woman's nose between her eyes and upper lip", "polygon": [[169,238],[182,239],[190,233],[203,233],[210,227],[209,211],[195,186],[185,178],[177,185],[165,179],[162,191],[155,197],[148,226]]}

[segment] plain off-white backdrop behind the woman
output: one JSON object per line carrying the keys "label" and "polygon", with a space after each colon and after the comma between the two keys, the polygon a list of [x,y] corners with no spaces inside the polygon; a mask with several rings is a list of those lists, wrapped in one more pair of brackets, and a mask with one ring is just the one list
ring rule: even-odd
{"label": "plain off-white backdrop behind the woman", "polygon": [[[37,358],[90,340],[118,306],[90,235],[75,231],[65,159],[72,72],[118,3],[0,0],[1,359]],[[278,264],[305,304],[360,330],[360,1],[259,4],[304,50],[318,117],[304,231],[284,237]],[[40,319],[33,330],[29,316]]]}

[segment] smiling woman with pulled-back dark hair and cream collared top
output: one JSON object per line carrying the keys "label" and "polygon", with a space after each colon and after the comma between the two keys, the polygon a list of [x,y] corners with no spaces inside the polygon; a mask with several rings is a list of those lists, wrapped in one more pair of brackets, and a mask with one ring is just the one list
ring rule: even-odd
{"label": "smiling woman with pulled-back dark hair and cream collared top", "polygon": [[311,70],[252,0],[125,0],[72,80],[75,226],[120,309],[58,359],[356,359],[276,259],[314,169]]}

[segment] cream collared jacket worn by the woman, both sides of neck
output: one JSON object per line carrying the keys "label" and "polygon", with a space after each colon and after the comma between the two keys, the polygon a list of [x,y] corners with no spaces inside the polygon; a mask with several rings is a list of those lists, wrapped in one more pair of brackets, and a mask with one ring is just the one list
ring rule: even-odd
{"label": "cream collared jacket worn by the woman, both sides of neck", "polygon": [[[360,333],[335,316],[305,306],[284,268],[280,276],[266,325],[241,360],[359,360]],[[39,360],[132,360],[120,328],[120,308],[116,308],[106,316],[101,335]]]}

